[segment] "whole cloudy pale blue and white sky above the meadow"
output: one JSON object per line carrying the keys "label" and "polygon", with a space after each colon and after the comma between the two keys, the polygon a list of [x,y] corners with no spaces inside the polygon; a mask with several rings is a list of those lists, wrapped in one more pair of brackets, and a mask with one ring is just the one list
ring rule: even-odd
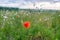
{"label": "whole cloudy pale blue and white sky above the meadow", "polygon": [[6,7],[35,8],[33,4],[38,8],[41,8],[41,5],[43,8],[60,8],[60,0],[0,0],[0,6]]}

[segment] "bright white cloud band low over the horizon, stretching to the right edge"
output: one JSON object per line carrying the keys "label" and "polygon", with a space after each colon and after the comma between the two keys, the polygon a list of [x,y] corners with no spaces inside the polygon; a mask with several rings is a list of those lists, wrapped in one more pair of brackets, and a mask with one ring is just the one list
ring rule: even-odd
{"label": "bright white cloud band low over the horizon, stretching to the right edge", "polygon": [[35,6],[33,6],[33,3],[32,3],[32,4],[24,5],[24,6],[20,7],[20,8],[36,9],[36,7],[39,8],[39,9],[60,10],[60,2],[57,2],[57,3],[50,3],[50,2],[39,2],[38,3],[38,2],[36,2]]}

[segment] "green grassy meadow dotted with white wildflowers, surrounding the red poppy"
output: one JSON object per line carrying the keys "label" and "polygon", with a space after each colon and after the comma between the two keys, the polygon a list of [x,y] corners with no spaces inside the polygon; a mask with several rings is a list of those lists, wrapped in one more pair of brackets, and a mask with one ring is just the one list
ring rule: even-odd
{"label": "green grassy meadow dotted with white wildflowers, surrounding the red poppy", "polygon": [[0,40],[60,40],[60,11],[0,10]]}

